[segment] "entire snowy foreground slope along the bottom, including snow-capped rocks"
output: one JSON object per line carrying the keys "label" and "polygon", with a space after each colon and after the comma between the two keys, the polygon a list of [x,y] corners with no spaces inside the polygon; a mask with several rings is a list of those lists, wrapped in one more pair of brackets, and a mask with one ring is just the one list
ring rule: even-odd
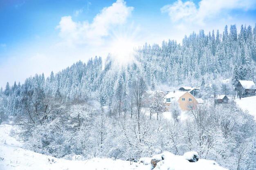
{"label": "entire snowy foreground slope along the bottom, including snow-capped rocks", "polygon": [[[22,143],[10,136],[13,126],[0,125],[0,170],[151,170],[150,161],[144,164],[130,161],[113,160],[110,158],[93,158],[90,160],[66,160],[42,155],[25,150]],[[192,152],[193,154],[196,152]],[[169,157],[167,159],[166,157]],[[162,160],[164,157],[164,160]],[[154,170],[226,170],[214,161],[199,159],[197,162],[189,162],[193,159],[188,152],[184,156],[175,156],[170,152],[155,155],[152,158],[159,161]],[[143,158],[142,158],[143,159]]]}

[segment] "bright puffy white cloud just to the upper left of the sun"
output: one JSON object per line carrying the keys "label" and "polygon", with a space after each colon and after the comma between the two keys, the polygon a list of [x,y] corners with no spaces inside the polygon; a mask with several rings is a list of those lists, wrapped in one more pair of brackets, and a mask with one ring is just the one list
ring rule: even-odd
{"label": "bright puffy white cloud just to the upper left of the sun", "polygon": [[132,10],[133,7],[127,7],[124,0],[117,0],[112,6],[103,8],[92,23],[74,22],[71,16],[64,16],[56,27],[60,29],[59,36],[62,39],[58,45],[74,47],[77,44],[101,44],[102,38],[108,36],[111,29],[126,22]]}

